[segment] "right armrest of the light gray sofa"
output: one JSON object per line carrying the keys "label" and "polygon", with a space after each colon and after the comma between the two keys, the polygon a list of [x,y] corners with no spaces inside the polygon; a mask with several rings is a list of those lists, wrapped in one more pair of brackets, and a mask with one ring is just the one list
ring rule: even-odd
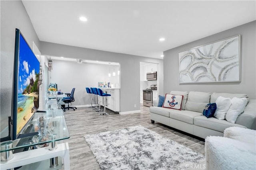
{"label": "right armrest of the light gray sofa", "polygon": [[244,125],[249,129],[256,130],[256,100],[250,99],[244,109],[244,113],[240,114],[236,119],[236,124]]}

